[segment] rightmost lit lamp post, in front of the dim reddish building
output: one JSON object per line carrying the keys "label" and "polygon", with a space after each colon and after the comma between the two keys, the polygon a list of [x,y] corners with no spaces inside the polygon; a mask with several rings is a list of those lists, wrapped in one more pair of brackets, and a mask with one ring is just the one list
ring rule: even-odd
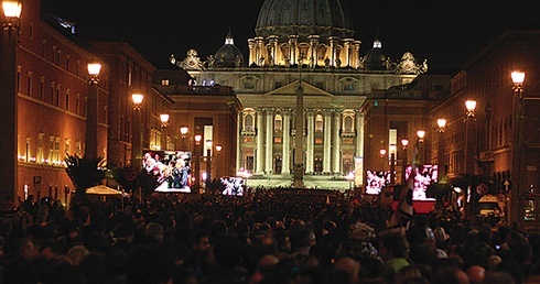
{"label": "rightmost lit lamp post, in front of the dim reddish building", "polygon": [[512,99],[512,167],[511,176],[516,179],[516,189],[510,193],[510,216],[509,220],[517,220],[518,225],[522,227],[525,222],[525,216],[522,216],[522,193],[521,193],[521,168],[523,159],[523,72],[512,72],[511,80],[514,83],[514,99]]}

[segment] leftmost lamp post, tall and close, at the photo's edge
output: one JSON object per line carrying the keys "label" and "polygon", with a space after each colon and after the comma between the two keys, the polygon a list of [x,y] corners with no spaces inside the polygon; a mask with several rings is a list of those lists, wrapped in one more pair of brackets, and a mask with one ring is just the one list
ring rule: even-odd
{"label": "leftmost lamp post, tall and close, at the photo's edge", "polygon": [[13,195],[17,182],[17,139],[18,139],[18,43],[19,19],[22,6],[19,1],[2,1],[6,22],[2,23],[2,45],[0,63],[0,194]]}

